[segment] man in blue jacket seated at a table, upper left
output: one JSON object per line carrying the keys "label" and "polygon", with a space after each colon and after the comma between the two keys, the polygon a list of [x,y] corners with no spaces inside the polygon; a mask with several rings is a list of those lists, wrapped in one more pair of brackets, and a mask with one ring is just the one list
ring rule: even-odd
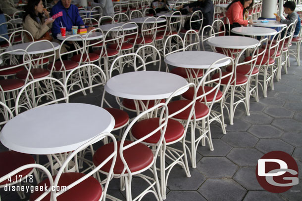
{"label": "man in blue jacket seated at a table, upper left", "polygon": [[[53,23],[51,28],[52,37],[56,38],[56,35],[61,33],[60,27],[66,27],[66,31],[71,31],[72,26],[84,25],[84,22],[79,14],[78,7],[71,4],[71,0],[58,1],[50,11],[50,15],[54,15],[62,11],[63,16],[58,17]],[[87,31],[91,31],[93,27],[87,27]]]}

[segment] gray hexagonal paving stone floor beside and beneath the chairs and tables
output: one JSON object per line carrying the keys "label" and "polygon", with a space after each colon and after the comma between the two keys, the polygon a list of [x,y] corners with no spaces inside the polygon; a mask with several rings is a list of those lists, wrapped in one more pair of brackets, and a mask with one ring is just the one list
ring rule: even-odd
{"label": "gray hexagonal paving stone floor beside and beneath the chairs and tables", "polygon": [[[288,74],[283,73],[282,80],[274,84],[267,98],[260,90],[259,102],[251,99],[251,116],[246,116],[243,105],[237,108],[234,125],[227,125],[227,134],[211,124],[214,151],[208,146],[198,147],[197,168],[190,169],[190,178],[180,167],[174,167],[168,180],[167,201],[302,201],[302,68],[291,58]],[[100,105],[100,90],[70,101]],[[5,148],[1,145],[0,150]],[[293,156],[301,172],[299,185],[281,194],[265,191],[255,176],[257,160],[277,150]],[[133,179],[134,195],[143,187],[140,179]],[[108,193],[125,200],[118,180],[112,180]],[[0,195],[2,201],[19,200],[16,193],[3,189]],[[143,200],[155,199],[147,194]]]}

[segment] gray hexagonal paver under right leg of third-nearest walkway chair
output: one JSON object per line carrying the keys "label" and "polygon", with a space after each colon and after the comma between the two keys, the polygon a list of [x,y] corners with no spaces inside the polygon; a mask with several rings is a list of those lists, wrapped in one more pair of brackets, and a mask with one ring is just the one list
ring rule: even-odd
{"label": "gray hexagonal paver under right leg of third-nearest walkway chair", "polygon": [[170,190],[197,190],[206,178],[197,169],[190,168],[190,173],[191,177],[187,177],[184,169],[179,165],[174,166],[167,187]]}

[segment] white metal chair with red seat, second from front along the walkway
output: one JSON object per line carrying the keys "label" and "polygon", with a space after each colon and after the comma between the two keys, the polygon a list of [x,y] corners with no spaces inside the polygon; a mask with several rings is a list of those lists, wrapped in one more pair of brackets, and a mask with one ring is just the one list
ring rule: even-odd
{"label": "white metal chair with red seat, second from front along the walkway", "polygon": [[[154,113],[154,111],[160,111],[159,124],[155,129],[151,129],[150,132],[141,139],[129,141],[129,135],[133,125],[141,120],[141,118],[149,116]],[[122,135],[121,141],[118,141],[118,152],[115,166],[113,168],[114,178],[121,178],[121,188],[126,190],[126,200],[141,200],[147,193],[153,193],[156,200],[161,199],[160,185],[157,178],[156,171],[156,158],[161,149],[165,130],[167,127],[167,106],[164,103],[160,103],[138,115],[127,127],[125,132]],[[142,144],[142,141],[149,137],[155,136],[157,133],[160,133],[160,137],[157,138],[158,141],[154,142],[156,149],[151,150],[148,146]],[[104,159],[112,152],[113,143],[108,143],[101,148],[99,148],[94,155],[94,164],[99,165],[104,162]],[[107,174],[109,172],[109,166],[111,162],[108,162],[106,165],[101,167],[100,172]],[[146,176],[143,173],[146,170],[150,170],[152,176]],[[148,187],[140,193],[136,198],[132,198],[132,178],[137,176],[142,178],[142,181],[147,182]]]}

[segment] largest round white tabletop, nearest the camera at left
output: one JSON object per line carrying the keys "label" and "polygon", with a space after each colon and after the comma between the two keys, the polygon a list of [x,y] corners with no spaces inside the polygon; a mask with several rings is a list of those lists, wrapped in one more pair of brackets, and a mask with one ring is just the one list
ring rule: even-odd
{"label": "largest round white tabletop, nearest the camera at left", "polygon": [[25,111],[9,120],[0,141],[8,149],[27,154],[70,152],[102,132],[111,132],[114,118],[103,108],[62,103]]}

